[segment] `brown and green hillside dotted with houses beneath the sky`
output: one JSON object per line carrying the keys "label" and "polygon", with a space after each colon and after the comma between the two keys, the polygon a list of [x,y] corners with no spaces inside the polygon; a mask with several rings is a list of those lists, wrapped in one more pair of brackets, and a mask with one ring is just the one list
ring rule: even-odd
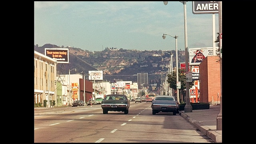
{"label": "brown and green hillside dotted with houses beneath the sky", "polygon": [[[60,48],[53,44],[45,44],[42,47],[34,46],[34,50],[44,54],[44,48]],[[62,46],[62,48],[64,48]],[[122,79],[124,81],[134,79],[136,77],[132,76],[140,72],[146,72],[149,75],[155,74],[159,71],[167,71],[168,68],[163,66],[169,66],[169,61],[164,59],[162,62],[162,57],[170,58],[170,55],[163,53],[161,50],[124,50],[124,49],[110,49],[106,48],[100,52],[90,52],[88,50],[82,50],[80,48],[66,47],[69,49],[69,62],[70,64],[65,64],[65,74],[68,74],[69,69],[76,68],[77,72],[85,72],[88,74],[90,70],[102,70],[104,74],[104,79],[113,80]],[[176,66],[176,56],[175,51],[167,51],[174,54],[173,58],[173,68]],[[178,51],[179,62],[185,62],[185,52]],[[155,56],[153,56],[155,55]],[[164,68],[164,69],[162,69]],[[75,72],[71,71],[71,74]],[[152,75],[149,80],[158,81],[158,76]]]}

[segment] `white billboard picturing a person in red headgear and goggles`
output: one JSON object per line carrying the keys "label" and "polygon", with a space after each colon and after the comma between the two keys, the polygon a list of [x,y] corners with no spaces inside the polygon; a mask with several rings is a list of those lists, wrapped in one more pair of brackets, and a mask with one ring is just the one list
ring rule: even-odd
{"label": "white billboard picturing a person in red headgear and goggles", "polygon": [[213,48],[189,48],[190,65],[199,65],[206,56],[213,56]]}

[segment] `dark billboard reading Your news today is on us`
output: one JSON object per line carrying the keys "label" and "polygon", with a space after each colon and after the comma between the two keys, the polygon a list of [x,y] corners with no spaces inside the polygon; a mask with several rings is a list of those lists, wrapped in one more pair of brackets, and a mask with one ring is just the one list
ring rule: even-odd
{"label": "dark billboard reading Your news today is on us", "polygon": [[44,55],[56,58],[57,63],[69,63],[68,48],[44,48]]}

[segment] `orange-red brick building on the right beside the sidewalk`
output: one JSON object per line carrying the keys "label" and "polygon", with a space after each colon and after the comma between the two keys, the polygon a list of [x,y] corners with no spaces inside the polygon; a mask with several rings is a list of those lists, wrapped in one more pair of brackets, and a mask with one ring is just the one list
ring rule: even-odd
{"label": "orange-red brick building on the right beside the sidewalk", "polygon": [[199,64],[199,69],[200,102],[208,102],[209,104],[220,104],[221,93],[219,57],[207,56]]}

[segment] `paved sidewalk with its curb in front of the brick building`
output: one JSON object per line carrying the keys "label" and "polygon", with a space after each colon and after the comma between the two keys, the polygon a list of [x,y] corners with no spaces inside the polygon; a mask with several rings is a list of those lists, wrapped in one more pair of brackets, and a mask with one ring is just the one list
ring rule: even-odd
{"label": "paved sidewalk with its curb in front of the brick building", "polygon": [[207,135],[216,143],[222,143],[222,130],[216,130],[216,118],[220,113],[220,105],[210,105],[206,110],[192,110],[184,112],[180,110],[180,116],[193,124],[203,134]]}

